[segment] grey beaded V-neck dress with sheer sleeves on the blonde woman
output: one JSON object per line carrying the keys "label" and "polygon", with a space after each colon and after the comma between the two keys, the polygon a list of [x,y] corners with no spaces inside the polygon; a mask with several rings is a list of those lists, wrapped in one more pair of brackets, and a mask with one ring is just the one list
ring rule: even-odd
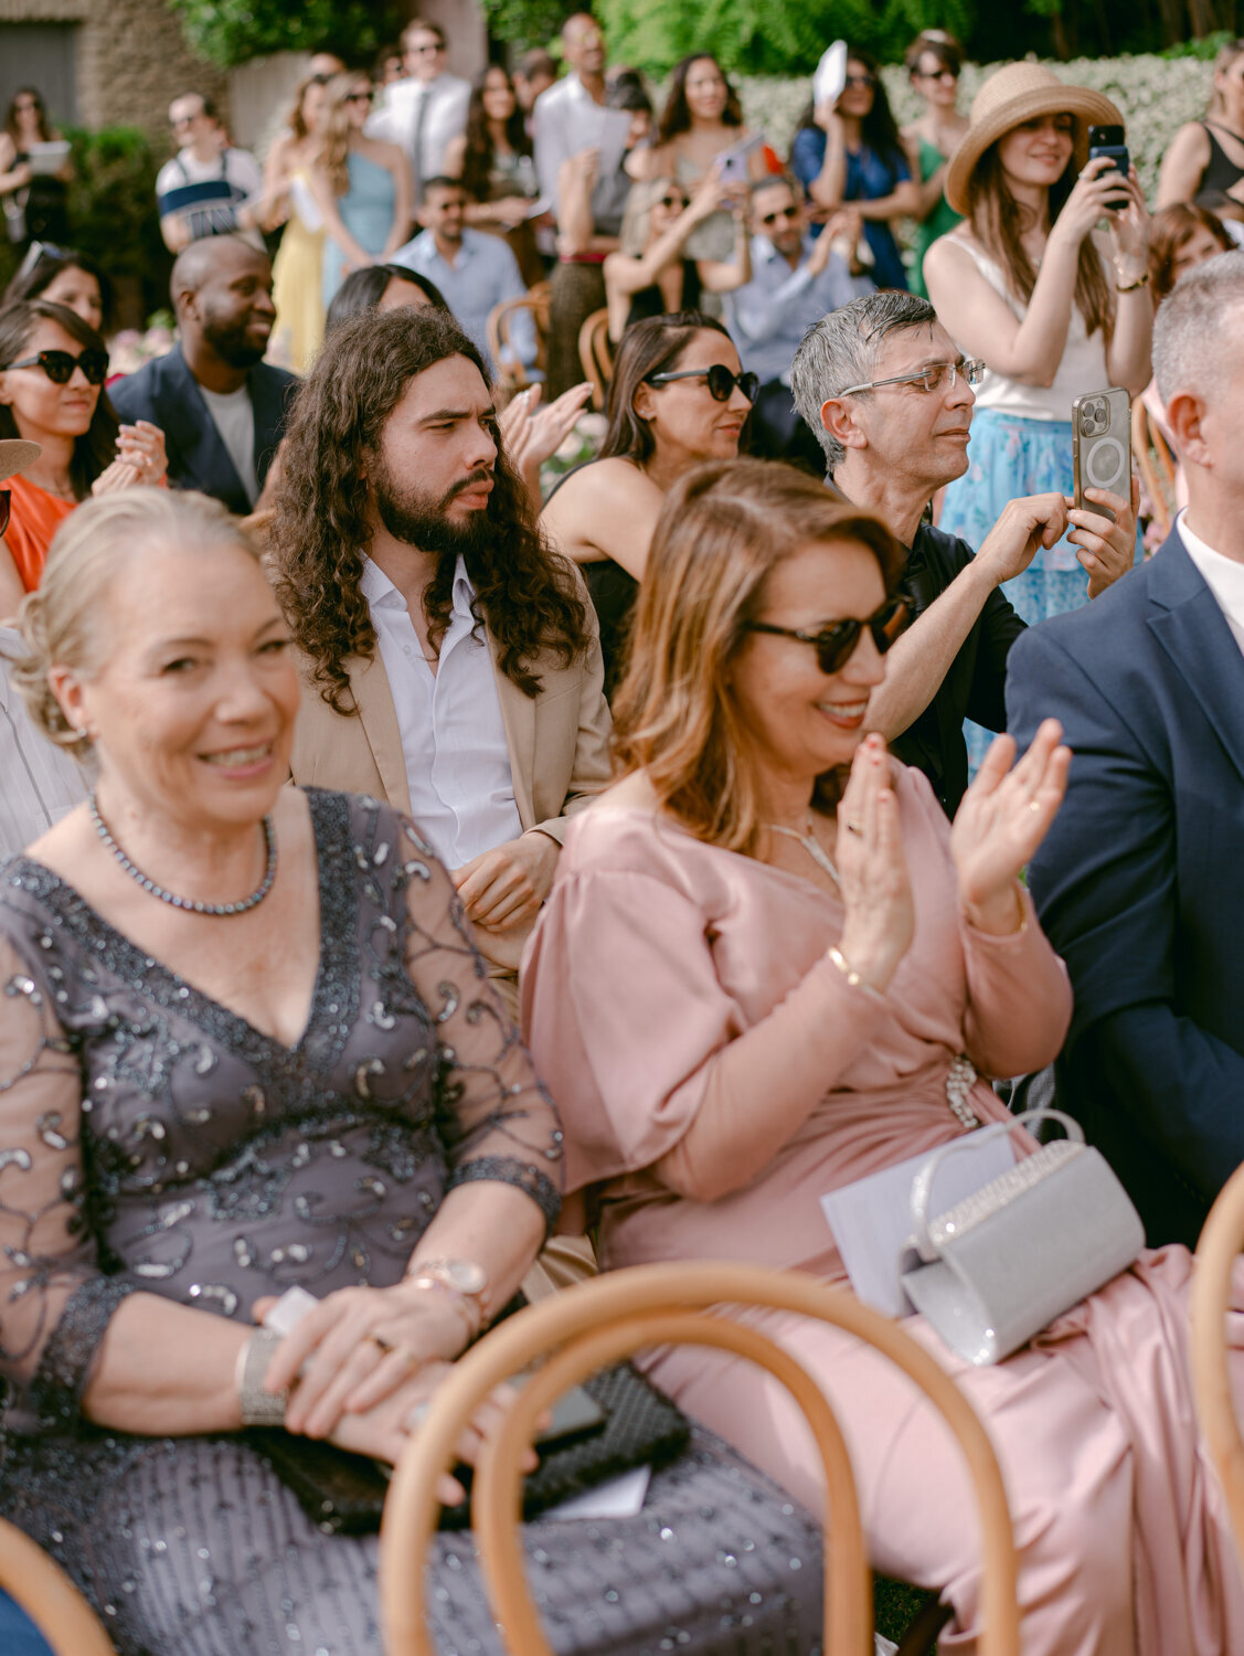
{"label": "grey beaded V-neck dress with sheer sleeves on the blonde woman", "polygon": [[[109,1318],[159,1293],[396,1282],[442,1196],[560,1207],[555,1110],[454,889],[374,800],[308,790],[321,959],[283,1047],[144,956],[28,858],[0,871],[0,1512],[123,1656],[379,1656],[376,1538],[325,1535],[245,1434],[104,1432],[80,1399]],[[558,1653],[817,1648],[815,1525],[719,1439],[634,1519],[525,1525]],[[500,1649],[469,1535],[432,1558],[444,1656]]]}

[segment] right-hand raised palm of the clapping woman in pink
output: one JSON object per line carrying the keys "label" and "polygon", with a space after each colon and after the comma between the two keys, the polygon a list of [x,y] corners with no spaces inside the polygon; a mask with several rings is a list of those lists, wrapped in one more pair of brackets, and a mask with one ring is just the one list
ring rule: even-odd
{"label": "right-hand raised palm of the clapping woman in pink", "polygon": [[951,828],[959,899],[977,931],[1007,936],[1024,924],[1019,874],[1049,833],[1063,793],[1072,750],[1062,725],[1045,719],[1019,760],[1009,735],[994,739]]}

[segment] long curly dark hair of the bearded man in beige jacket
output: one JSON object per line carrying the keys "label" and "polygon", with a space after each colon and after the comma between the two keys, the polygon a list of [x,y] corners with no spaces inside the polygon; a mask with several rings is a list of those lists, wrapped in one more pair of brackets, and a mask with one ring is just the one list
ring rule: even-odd
{"label": "long curly dark hair of the bearded man in beige jacket", "polygon": [[[270,535],[273,580],[295,643],[338,714],[356,712],[346,659],[376,652],[359,590],[373,533],[363,462],[379,455],[389,416],[416,374],[449,356],[464,356],[492,384],[480,353],[446,311],[431,305],[364,311],[325,339],[290,411]],[[475,614],[497,643],[502,672],[535,697],[540,679],[532,667],[542,652],[570,666],[588,651],[581,580],[542,538],[527,490],[500,447],[487,517],[494,533],[465,551]],[[424,593],[434,643],[449,626],[456,561],[442,553]]]}

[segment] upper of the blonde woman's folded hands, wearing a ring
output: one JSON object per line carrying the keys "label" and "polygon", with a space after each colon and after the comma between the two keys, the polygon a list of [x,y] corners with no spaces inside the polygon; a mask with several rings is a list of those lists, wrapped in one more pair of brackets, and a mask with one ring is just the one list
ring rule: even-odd
{"label": "upper of the blonde woman's folded hands, wearing a ring", "polygon": [[[258,1300],[255,1320],[273,1303]],[[364,1414],[427,1363],[456,1358],[465,1335],[449,1295],[404,1282],[340,1288],[282,1340],[265,1384],[268,1391],[293,1388],[285,1411],[288,1431],[328,1437],[343,1414]]]}

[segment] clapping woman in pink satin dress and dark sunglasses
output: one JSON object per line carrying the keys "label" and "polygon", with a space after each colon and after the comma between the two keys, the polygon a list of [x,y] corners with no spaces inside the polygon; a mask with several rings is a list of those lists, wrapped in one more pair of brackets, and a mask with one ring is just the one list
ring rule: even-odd
{"label": "clapping woman in pink satin dress and dark sunglasses", "polygon": [[[661,515],[615,707],[623,780],[571,823],[523,965],[567,1187],[588,1194],[606,1270],[737,1259],[845,1285],[820,1196],[1005,1118],[984,1076],[1062,1045],[1070,987],[1017,876],[1070,753],[1054,720],[1014,768],[999,737],[951,828],[865,737],[899,558],[875,518],[780,465],[702,467]],[[967,1108],[957,1055],[981,1076]],[[992,1368],[904,1323],[997,1447],[1025,1656],[1244,1651],[1193,1416],[1189,1275],[1183,1249],[1145,1254]],[[974,1649],[976,1509],[939,1419],[850,1336],[745,1315],[835,1404],[873,1563],[939,1588],[941,1648]],[[691,1346],[648,1371],[820,1510],[775,1381]]]}

